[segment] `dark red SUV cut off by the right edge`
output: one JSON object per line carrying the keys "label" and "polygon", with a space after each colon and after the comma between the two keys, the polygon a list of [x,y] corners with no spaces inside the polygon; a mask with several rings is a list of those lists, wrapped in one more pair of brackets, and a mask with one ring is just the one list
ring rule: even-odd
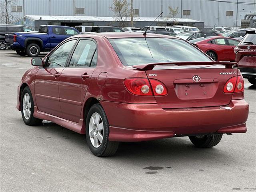
{"label": "dark red SUV cut off by the right edge", "polygon": [[256,30],[246,31],[242,41],[234,48],[236,62],[242,76],[256,84]]}

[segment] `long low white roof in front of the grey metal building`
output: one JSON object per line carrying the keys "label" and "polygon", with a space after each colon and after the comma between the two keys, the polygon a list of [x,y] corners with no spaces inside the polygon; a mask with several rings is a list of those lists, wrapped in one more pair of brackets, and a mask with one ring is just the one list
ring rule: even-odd
{"label": "long low white roof in front of the grey metal building", "polygon": [[[114,17],[96,17],[96,16],[47,16],[47,15],[25,15],[26,17],[31,20],[50,20],[50,21],[115,21],[116,18]],[[22,17],[22,18],[23,18]],[[140,17],[134,18],[134,21],[141,21],[141,22],[153,22],[156,18],[155,17]],[[130,21],[130,18],[124,18],[125,21]],[[194,20],[190,18],[176,18],[176,22],[203,22],[199,20]],[[172,22],[172,18],[158,18],[156,22]]]}

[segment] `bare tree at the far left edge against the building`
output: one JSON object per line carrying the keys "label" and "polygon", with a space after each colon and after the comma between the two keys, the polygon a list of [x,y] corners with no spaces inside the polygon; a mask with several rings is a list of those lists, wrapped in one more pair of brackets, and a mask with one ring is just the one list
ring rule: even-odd
{"label": "bare tree at the far left edge against the building", "polygon": [[15,16],[11,14],[11,6],[16,3],[16,0],[3,0],[0,4],[0,22],[5,24],[11,24],[15,19]]}

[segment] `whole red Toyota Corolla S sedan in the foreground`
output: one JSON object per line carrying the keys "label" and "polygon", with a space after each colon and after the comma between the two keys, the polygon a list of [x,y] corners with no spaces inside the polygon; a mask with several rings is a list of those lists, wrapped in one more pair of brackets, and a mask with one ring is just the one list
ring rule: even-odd
{"label": "whole red Toyota Corolla S sedan in the foreground", "polygon": [[80,134],[96,156],[118,142],[189,136],[197,147],[246,132],[249,106],[235,63],[214,62],[171,36],[72,36],[33,58],[18,86],[27,125],[49,120]]}

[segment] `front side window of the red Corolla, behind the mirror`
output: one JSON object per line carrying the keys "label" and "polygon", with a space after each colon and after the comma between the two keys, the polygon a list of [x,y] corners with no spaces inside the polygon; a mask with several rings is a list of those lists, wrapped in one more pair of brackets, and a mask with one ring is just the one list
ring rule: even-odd
{"label": "front side window of the red Corolla, behind the mirror", "polygon": [[70,50],[74,46],[76,40],[71,40],[65,42],[61,46],[59,46],[48,59],[47,67],[64,67],[66,64],[66,60],[70,53]]}

